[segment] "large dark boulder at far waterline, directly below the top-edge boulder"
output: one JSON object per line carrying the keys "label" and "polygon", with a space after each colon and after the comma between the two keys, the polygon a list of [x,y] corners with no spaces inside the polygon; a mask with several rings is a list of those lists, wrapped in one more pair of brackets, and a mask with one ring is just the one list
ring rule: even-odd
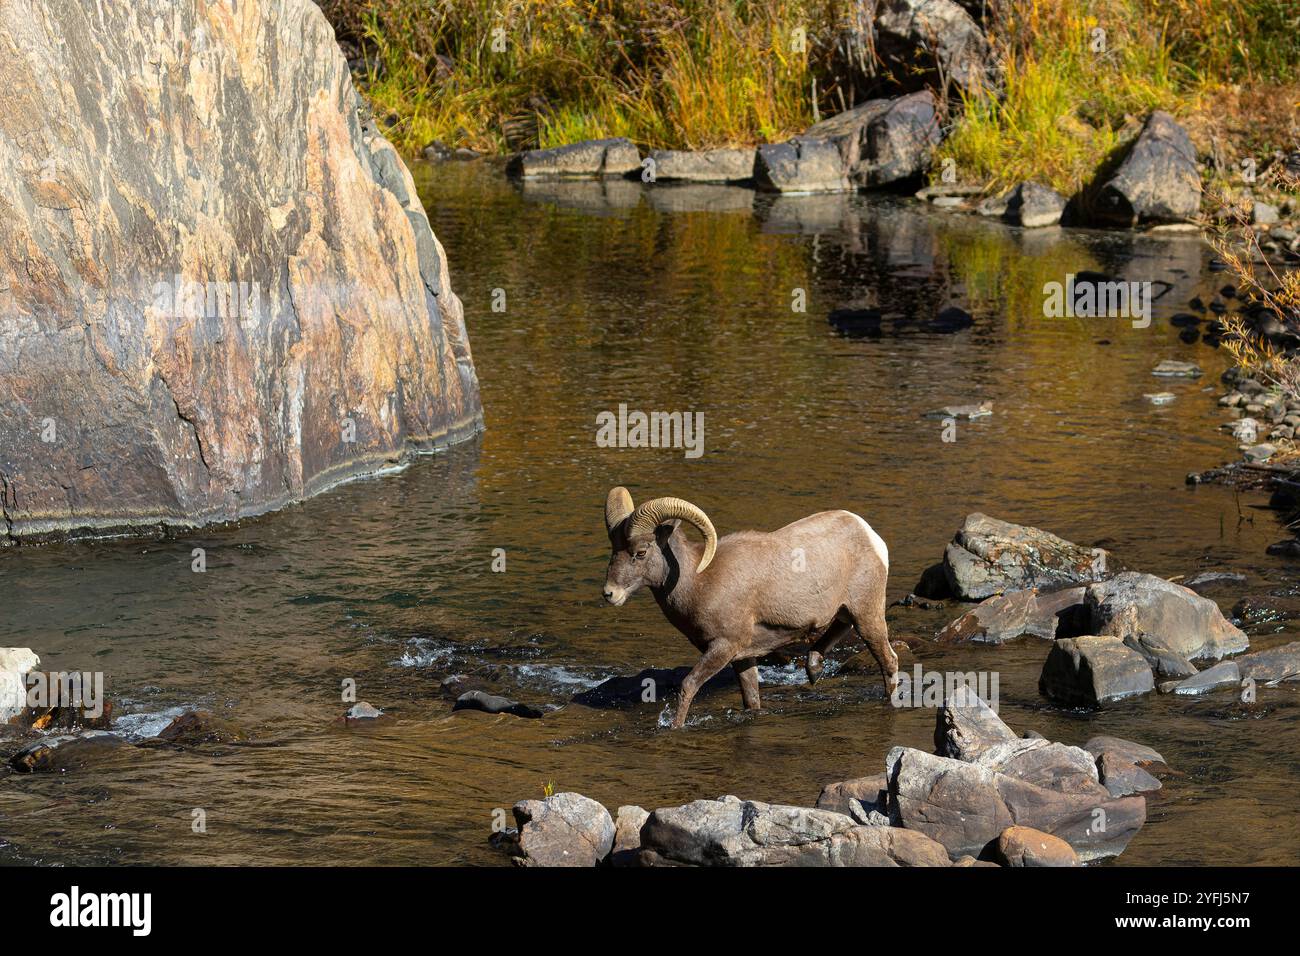
{"label": "large dark boulder at far waterline, directly below the top-edge boulder", "polygon": [[923,90],[868,100],[814,124],[803,137],[835,143],[849,182],[876,187],[914,179],[930,169],[942,130],[935,96]]}

